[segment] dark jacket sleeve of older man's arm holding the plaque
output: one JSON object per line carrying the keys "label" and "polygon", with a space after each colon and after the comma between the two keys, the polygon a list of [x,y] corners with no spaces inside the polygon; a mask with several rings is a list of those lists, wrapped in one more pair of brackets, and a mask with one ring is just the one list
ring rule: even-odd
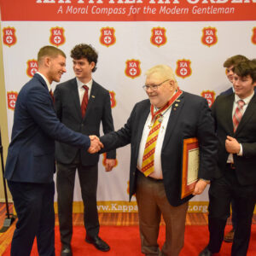
{"label": "dark jacket sleeve of older man's arm holding the plaque", "polygon": [[207,101],[201,102],[197,137],[200,147],[198,177],[212,180],[217,166],[218,140],[214,131],[214,120]]}

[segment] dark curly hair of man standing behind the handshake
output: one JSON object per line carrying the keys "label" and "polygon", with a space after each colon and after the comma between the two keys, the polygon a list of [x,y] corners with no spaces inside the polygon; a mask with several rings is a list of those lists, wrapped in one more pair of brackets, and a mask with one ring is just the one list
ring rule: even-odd
{"label": "dark curly hair of man standing behind the handshake", "polygon": [[89,63],[92,61],[95,63],[95,67],[92,72],[96,71],[96,64],[98,61],[98,54],[90,44],[77,44],[72,50],[70,56],[75,60],[85,58]]}

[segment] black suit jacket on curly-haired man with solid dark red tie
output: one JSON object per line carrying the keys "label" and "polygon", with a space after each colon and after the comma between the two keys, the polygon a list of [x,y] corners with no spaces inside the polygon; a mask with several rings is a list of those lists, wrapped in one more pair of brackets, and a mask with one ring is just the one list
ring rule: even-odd
{"label": "black suit jacket on curly-haired man with solid dark red tie", "polygon": [[[55,88],[55,111],[64,125],[73,131],[79,131],[86,135],[100,136],[100,125],[104,133],[113,131],[113,118],[108,90],[95,81],[92,83],[90,99],[84,119],[82,119],[79,102],[79,90],[76,79],[70,79],[58,84]],[[56,160],[63,164],[70,164],[79,148],[71,147],[64,143],[56,143]],[[81,149],[81,161],[83,166],[96,165],[99,154],[89,154]],[[108,159],[115,159],[115,150],[107,153]]]}

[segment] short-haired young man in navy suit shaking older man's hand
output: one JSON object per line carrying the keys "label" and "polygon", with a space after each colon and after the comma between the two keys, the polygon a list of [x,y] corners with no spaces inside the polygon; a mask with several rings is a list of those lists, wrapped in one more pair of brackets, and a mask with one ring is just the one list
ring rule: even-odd
{"label": "short-haired young man in navy suit shaking older man's hand", "polygon": [[18,216],[11,256],[29,256],[37,237],[40,256],[55,255],[55,140],[96,153],[101,143],[68,129],[56,117],[50,84],[66,72],[66,55],[53,46],[38,52],[38,73],[15,104],[5,177]]}

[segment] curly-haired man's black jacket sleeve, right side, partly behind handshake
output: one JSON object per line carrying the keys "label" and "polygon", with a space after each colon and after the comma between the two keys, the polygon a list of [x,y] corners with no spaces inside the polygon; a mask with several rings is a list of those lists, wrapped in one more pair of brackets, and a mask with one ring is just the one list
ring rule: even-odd
{"label": "curly-haired man's black jacket sleeve, right side, partly behind handshake", "polygon": [[[105,96],[104,108],[103,108],[103,115],[102,115],[102,128],[104,134],[107,134],[111,131],[114,131],[113,128],[113,116],[111,110],[111,102],[109,93]],[[115,159],[116,158],[116,150],[111,150],[107,152],[107,159]]]}

